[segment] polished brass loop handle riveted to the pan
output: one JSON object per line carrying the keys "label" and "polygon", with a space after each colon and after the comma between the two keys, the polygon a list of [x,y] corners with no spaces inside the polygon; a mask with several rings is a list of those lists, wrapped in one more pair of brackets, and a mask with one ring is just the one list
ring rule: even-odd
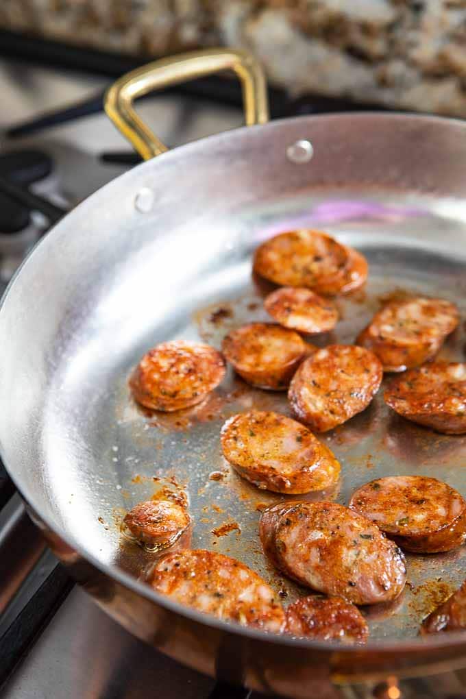
{"label": "polished brass loop handle riveted to the pan", "polygon": [[247,126],[268,122],[267,88],[261,65],[251,53],[228,48],[193,51],[141,66],[108,88],[103,106],[117,129],[143,159],[149,160],[168,148],[140,119],[133,101],[154,89],[228,69],[241,81]]}

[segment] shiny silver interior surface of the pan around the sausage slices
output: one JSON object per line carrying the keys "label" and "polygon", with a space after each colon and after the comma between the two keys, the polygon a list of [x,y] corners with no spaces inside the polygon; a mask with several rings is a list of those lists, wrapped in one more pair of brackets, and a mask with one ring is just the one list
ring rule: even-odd
{"label": "shiny silver interior surface of the pan around the sausage slices", "polygon": [[[138,408],[128,386],[138,359],[156,343],[182,338],[219,348],[229,330],[270,320],[262,303],[271,287],[252,278],[252,252],[273,233],[323,229],[369,261],[365,291],[338,298],[340,322],[313,343],[354,342],[387,294],[414,292],[458,304],[462,324],[439,357],[465,361],[466,147],[458,152],[442,120],[413,120],[416,128],[411,122],[401,134],[393,117],[381,117],[378,129],[369,122],[356,129],[355,121],[245,129],[207,140],[204,150],[195,144],[145,164],[67,217],[10,288],[0,312],[3,407],[8,401],[3,456],[34,509],[103,565],[140,575],[153,554],[122,538],[124,512],[161,487],[181,488],[194,518],[192,547],[247,563],[284,605],[306,593],[261,551],[260,510],[283,496],[233,473],[219,442],[222,424],[237,412],[290,415],[286,394],[251,389],[229,368],[201,405],[168,415]],[[451,128],[466,140],[464,127]],[[426,162],[412,150],[418,129],[431,139]],[[338,134],[340,150],[329,152],[329,138],[331,145]],[[286,147],[304,137],[312,140],[315,164],[286,159]],[[388,138],[394,150],[384,151]],[[321,157],[319,147],[326,147]],[[453,182],[453,153],[458,173],[458,159],[463,163],[463,182]],[[437,173],[426,180],[436,156]],[[149,215],[133,208],[142,187],[156,192]],[[403,420],[384,405],[382,389],[363,413],[320,435],[342,477],[334,491],[305,497],[347,504],[357,487],[384,475],[436,477],[466,496],[466,435],[439,435]],[[465,579],[465,556],[465,547],[407,555],[402,596],[364,610],[370,640],[416,637],[423,617]]]}

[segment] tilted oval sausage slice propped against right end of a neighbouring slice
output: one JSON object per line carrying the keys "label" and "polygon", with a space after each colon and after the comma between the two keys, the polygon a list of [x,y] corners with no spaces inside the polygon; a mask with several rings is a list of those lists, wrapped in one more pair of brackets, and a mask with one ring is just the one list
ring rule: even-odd
{"label": "tilted oval sausage slice propped against right end of a neighbouring slice", "polygon": [[293,376],[291,409],[311,429],[326,432],[367,408],[381,380],[375,354],[356,345],[329,345],[303,361]]}

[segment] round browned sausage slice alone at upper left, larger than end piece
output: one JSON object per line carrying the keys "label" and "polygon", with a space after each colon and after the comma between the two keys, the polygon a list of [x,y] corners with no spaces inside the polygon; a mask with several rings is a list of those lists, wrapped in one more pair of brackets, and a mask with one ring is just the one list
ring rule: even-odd
{"label": "round browned sausage slice alone at upper left, larger than end piece", "polygon": [[200,403],[224,375],[225,362],[217,349],[175,340],[143,356],[130,386],[145,408],[173,412]]}

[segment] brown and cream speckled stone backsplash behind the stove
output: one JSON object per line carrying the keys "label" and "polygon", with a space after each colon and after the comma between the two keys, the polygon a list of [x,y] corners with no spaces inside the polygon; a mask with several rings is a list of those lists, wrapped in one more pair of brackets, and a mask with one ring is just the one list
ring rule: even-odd
{"label": "brown and cream speckled stone backsplash behind the stove", "polygon": [[150,57],[245,47],[293,95],[466,116],[466,0],[1,0],[0,27]]}

